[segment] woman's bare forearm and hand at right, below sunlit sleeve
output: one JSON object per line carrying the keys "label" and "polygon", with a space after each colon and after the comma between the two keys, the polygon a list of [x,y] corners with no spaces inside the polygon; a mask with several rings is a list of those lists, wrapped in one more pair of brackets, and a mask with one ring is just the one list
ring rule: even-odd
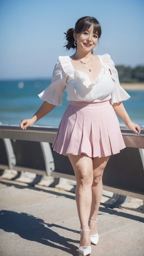
{"label": "woman's bare forearm and hand at right, below sunlit sleeve", "polygon": [[142,130],[140,128],[140,125],[138,125],[130,120],[130,117],[129,117],[128,113],[126,112],[122,101],[120,101],[118,103],[113,103],[112,107],[113,107],[115,113],[124,121],[125,125],[130,130],[132,130],[136,134],[140,134],[140,131]]}

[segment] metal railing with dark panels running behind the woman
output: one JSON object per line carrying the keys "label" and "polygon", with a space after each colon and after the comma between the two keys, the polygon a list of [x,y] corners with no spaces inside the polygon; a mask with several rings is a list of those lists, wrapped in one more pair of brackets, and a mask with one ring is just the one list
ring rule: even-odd
{"label": "metal railing with dark panels running behind the woman", "polygon": [[[126,148],[111,155],[103,174],[103,189],[144,198],[144,127],[139,135],[120,126]],[[69,158],[53,151],[58,127],[0,125],[0,168],[75,180]]]}

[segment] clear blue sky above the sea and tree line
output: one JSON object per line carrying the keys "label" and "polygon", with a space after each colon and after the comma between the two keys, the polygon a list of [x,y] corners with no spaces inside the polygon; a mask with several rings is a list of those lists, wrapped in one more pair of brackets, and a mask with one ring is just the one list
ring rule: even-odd
{"label": "clear blue sky above the sea and tree line", "polygon": [[95,54],[109,53],[115,65],[144,65],[143,0],[0,0],[0,79],[48,78],[66,30],[83,16],[100,22]]}

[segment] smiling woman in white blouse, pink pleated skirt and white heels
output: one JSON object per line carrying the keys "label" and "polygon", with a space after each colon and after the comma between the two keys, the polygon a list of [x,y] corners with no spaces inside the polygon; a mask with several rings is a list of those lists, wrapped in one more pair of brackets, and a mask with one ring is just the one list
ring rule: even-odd
{"label": "smiling woman in white blouse, pink pleated skirt and white heels", "polygon": [[[59,56],[51,84],[38,96],[44,100],[30,119],[22,120],[26,129],[62,105],[67,90],[67,106],[53,150],[67,155],[76,176],[76,204],[80,219],[80,255],[91,253],[90,244],[97,244],[97,214],[102,197],[102,175],[111,155],[126,146],[116,114],[126,126],[139,134],[140,126],[132,122],[122,104],[130,95],[120,86],[118,72],[109,54],[93,55],[99,42],[101,27],[94,17],[82,17],[75,29],[67,30],[66,49],[75,49],[72,56]],[[94,53],[95,51],[93,51]],[[89,232],[87,232],[89,231]]]}

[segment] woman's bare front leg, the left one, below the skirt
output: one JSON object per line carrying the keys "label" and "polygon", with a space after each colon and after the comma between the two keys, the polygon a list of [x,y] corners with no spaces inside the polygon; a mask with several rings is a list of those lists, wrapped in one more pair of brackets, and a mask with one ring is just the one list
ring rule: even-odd
{"label": "woman's bare front leg, the left one, below the skirt", "polygon": [[[81,229],[89,228],[88,221],[92,202],[93,160],[81,155],[68,154],[76,177],[76,204]],[[82,232],[80,246],[90,246],[90,232]]]}

